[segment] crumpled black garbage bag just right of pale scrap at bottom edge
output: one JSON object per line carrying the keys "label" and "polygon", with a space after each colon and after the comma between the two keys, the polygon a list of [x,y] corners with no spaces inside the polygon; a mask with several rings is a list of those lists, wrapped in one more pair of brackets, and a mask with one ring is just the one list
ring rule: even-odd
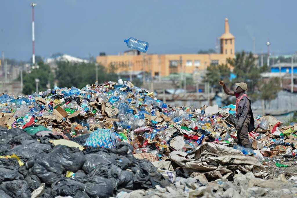
{"label": "crumpled black garbage bag just right of pale scrap at bottom edge", "polygon": [[[52,197],[75,196],[78,192],[85,191],[85,184],[69,178],[62,178],[54,182],[51,186]],[[99,197],[99,196],[98,196]]]}

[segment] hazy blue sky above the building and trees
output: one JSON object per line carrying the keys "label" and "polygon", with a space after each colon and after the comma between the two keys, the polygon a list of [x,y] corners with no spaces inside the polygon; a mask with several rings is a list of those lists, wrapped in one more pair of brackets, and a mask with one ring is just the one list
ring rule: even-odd
{"label": "hazy blue sky above the building and trees", "polygon": [[149,43],[147,53],[197,53],[214,48],[229,18],[236,51],[296,51],[297,1],[100,1],[0,0],[0,51],[29,60],[32,54],[31,7],[35,7],[36,55],[62,52],[78,57],[127,50],[124,39]]}

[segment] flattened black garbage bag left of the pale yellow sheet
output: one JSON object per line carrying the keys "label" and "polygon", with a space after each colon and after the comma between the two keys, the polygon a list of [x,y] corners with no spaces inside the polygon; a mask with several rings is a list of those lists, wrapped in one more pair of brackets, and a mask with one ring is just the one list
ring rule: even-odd
{"label": "flattened black garbage bag left of the pale yellow sheet", "polygon": [[20,145],[13,147],[9,151],[7,151],[6,155],[17,155],[20,159],[24,161],[28,161],[30,158],[40,154],[40,153],[48,153],[52,150],[51,145],[49,144],[41,144],[36,140],[23,140],[20,141]]}

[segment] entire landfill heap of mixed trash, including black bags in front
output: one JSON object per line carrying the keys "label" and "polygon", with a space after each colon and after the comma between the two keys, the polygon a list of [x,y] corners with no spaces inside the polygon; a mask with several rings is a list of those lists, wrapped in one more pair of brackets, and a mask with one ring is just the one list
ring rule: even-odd
{"label": "entire landfill heap of mixed trash, including black bags in front", "polygon": [[0,191],[6,197],[128,196],[122,191],[164,191],[180,177],[197,191],[202,182],[196,177],[208,185],[242,174],[265,181],[267,163],[296,161],[297,124],[257,117],[249,133],[253,149],[247,149],[236,144],[234,105],[171,107],[121,79],[16,98],[3,94],[0,106]]}

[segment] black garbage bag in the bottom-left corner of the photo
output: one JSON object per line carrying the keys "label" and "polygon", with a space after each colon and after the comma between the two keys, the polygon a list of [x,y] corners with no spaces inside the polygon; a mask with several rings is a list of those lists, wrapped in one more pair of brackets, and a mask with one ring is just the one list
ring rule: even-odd
{"label": "black garbage bag in the bottom-left corner of the photo", "polygon": [[12,180],[3,182],[0,185],[0,189],[3,190],[10,197],[14,198],[28,198],[31,197],[31,191],[28,188],[28,184],[25,180]]}

